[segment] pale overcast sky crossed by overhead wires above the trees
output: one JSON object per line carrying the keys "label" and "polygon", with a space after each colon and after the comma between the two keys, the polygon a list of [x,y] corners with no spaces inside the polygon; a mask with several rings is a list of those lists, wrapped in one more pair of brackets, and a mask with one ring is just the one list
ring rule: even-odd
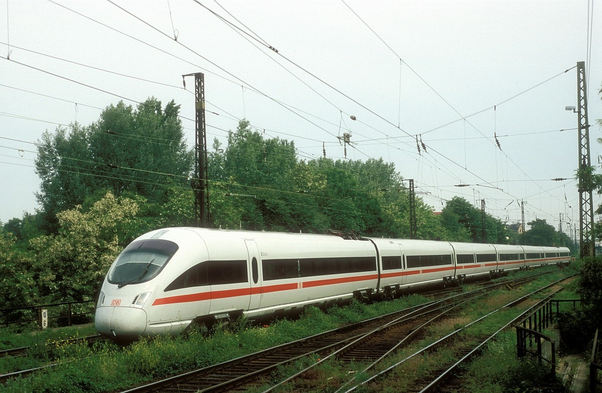
{"label": "pale overcast sky crossed by overhead wires above the trees", "polygon": [[[565,111],[577,106],[578,61],[594,165],[602,154],[602,9],[587,0],[114,2],[0,0],[2,222],[38,207],[45,130],[90,124],[120,97],[174,99],[194,119],[182,74],[203,72],[208,141],[247,118],[294,140],[300,159],[323,144],[342,159],[347,132],[349,159],[393,162],[433,210],[459,195],[517,222],[524,200],[527,222],[557,228],[562,213],[564,229],[579,227],[577,114]],[[192,147],[194,121],[184,127]]]}

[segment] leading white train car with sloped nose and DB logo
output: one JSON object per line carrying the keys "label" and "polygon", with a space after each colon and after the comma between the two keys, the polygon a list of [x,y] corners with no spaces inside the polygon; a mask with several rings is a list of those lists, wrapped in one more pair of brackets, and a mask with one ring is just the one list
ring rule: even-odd
{"label": "leading white train car with sloped nose and DB logo", "polygon": [[371,296],[379,266],[370,240],[168,228],[134,240],[111,266],[95,324],[131,341],[177,334],[193,321],[288,314]]}

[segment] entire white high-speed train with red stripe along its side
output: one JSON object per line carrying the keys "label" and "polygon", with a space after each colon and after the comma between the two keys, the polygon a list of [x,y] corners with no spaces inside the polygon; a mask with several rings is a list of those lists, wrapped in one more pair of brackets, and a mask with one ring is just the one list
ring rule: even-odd
{"label": "entire white high-speed train with red stripe along its side", "polygon": [[114,261],[95,324],[132,341],[193,322],[287,315],[569,260],[559,247],[166,228],[138,237]]}

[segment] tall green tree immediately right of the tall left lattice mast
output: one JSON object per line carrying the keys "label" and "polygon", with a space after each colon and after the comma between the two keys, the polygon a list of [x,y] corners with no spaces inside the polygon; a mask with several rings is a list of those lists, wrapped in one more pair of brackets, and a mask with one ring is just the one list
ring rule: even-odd
{"label": "tall green tree immediately right of the tall left lattice mast", "polygon": [[297,160],[293,142],[265,139],[242,120],[225,150],[209,154],[209,199],[214,225],[252,230],[315,231],[323,228],[307,193],[319,182]]}

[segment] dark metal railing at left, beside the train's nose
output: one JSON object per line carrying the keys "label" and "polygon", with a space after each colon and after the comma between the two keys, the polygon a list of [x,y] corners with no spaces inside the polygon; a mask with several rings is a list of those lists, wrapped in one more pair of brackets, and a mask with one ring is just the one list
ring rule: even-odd
{"label": "dark metal railing at left, beside the train's nose", "polygon": [[[0,315],[2,315],[2,324],[5,327],[8,327],[10,324],[26,324],[31,322],[37,323],[39,321],[40,311],[42,309],[48,309],[49,320],[55,320],[58,324],[62,324],[63,326],[65,324],[67,326],[71,326],[75,318],[94,314],[95,303],[95,300],[83,300],[80,302],[63,302],[36,306],[3,308],[0,309]],[[81,309],[76,307],[77,305],[85,304],[90,305],[88,306],[88,311],[81,312]],[[78,308],[78,310],[73,312],[73,308]],[[33,315],[35,315],[34,318],[32,318]],[[92,318],[90,318],[90,320],[92,320]],[[60,323],[61,321],[62,323]]]}

